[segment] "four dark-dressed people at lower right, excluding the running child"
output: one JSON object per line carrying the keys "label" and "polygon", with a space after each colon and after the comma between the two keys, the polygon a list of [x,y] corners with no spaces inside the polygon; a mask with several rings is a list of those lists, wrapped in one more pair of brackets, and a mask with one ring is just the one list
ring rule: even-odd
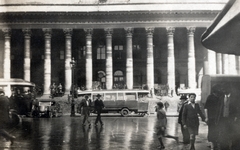
{"label": "four dark-dressed people at lower right, excluding the running child", "polygon": [[194,150],[195,136],[198,135],[198,115],[208,125],[207,139],[213,150],[240,149],[240,87],[231,84],[215,85],[204,104],[204,113],[195,103],[195,94],[181,96],[178,107],[178,123],[181,125],[183,144]]}

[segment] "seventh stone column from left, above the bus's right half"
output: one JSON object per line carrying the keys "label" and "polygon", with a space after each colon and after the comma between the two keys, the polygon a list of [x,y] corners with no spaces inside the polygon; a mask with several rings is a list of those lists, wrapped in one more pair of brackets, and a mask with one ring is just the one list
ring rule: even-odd
{"label": "seventh stone column from left, above the bus's right half", "polygon": [[126,85],[128,89],[133,89],[133,55],[132,55],[132,28],[126,28]]}

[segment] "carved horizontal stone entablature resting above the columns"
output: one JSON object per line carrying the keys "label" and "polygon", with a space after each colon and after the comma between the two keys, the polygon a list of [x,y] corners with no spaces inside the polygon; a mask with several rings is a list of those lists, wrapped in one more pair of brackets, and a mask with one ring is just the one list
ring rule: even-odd
{"label": "carved horizontal stone entablature resting above the columns", "polygon": [[0,27],[112,28],[208,27],[219,11],[0,13]]}

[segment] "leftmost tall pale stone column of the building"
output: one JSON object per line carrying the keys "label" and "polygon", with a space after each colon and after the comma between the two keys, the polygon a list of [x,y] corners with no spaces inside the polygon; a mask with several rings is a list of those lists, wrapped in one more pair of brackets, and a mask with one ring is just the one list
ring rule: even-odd
{"label": "leftmost tall pale stone column of the building", "polygon": [[11,78],[11,29],[2,29],[4,34],[3,78]]}

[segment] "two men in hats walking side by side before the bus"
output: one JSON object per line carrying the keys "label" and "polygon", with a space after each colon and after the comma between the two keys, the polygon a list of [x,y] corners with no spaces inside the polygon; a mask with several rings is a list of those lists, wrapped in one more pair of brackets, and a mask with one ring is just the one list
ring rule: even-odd
{"label": "two men in hats walking side by side before the bus", "polygon": [[102,109],[104,108],[104,103],[101,100],[101,95],[98,94],[97,99],[93,102],[88,95],[85,95],[85,98],[82,99],[81,103],[80,103],[80,109],[82,109],[82,115],[84,115],[83,118],[83,123],[82,125],[85,126],[86,122],[88,123],[88,126],[91,127],[91,122],[89,120],[89,115],[92,111],[92,106],[94,103],[94,111],[97,114],[96,120],[95,120],[95,126],[98,125],[98,122],[100,122],[100,125],[103,126],[103,122],[101,119],[101,113],[102,113]]}

